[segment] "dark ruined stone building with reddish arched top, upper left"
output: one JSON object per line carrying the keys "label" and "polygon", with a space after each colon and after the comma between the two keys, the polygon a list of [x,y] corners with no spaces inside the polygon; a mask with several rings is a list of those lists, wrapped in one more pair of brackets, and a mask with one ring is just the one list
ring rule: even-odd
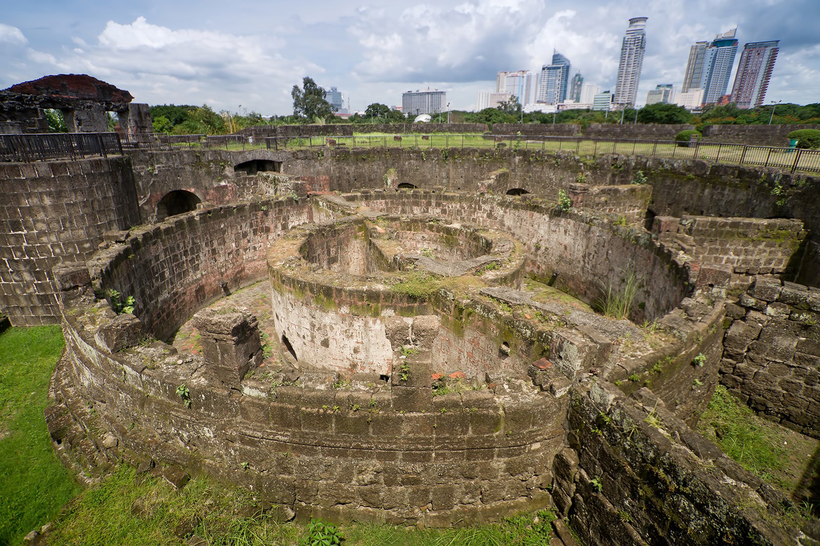
{"label": "dark ruined stone building with reddish arched top, upper left", "polygon": [[0,134],[48,133],[45,110],[62,112],[69,133],[104,133],[116,112],[125,138],[153,133],[148,104],[89,75],[43,76],[0,91]]}

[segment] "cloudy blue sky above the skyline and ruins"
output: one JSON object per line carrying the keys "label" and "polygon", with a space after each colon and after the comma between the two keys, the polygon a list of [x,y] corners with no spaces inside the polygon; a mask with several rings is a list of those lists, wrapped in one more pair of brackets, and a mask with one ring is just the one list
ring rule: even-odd
{"label": "cloudy blue sky above the skyline and ruins", "polygon": [[[114,7],[116,6],[116,7]],[[416,89],[472,110],[499,71],[549,64],[553,49],[585,83],[615,90],[630,17],[648,16],[637,102],[656,84],[680,90],[692,44],[738,27],[779,39],[766,103],[820,102],[818,0],[0,0],[0,89],[43,75],[88,74],[134,102],[216,111],[293,111],[310,76],[351,111],[400,105]],[[727,92],[731,91],[731,82]]]}

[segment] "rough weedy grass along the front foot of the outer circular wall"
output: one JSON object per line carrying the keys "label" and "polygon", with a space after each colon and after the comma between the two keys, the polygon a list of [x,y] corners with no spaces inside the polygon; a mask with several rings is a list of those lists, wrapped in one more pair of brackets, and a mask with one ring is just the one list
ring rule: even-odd
{"label": "rough weedy grass along the front foot of the outer circular wall", "polygon": [[[87,489],[55,521],[51,544],[183,544],[191,534],[212,545],[302,544],[305,525],[278,523],[255,508],[257,499],[207,478],[175,490],[165,480],[119,466]],[[461,529],[417,529],[381,523],[339,526],[344,544],[357,546],[535,546],[549,542],[553,512],[522,514],[497,524]]]}

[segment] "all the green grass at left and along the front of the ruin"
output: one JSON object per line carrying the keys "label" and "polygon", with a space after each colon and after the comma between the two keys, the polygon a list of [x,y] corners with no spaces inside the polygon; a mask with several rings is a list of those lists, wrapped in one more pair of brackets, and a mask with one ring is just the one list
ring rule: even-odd
{"label": "all the green grass at left and along the front of the ruin", "polygon": [[[22,544],[48,521],[54,524],[48,544],[186,544],[192,534],[212,546],[305,544],[308,526],[278,523],[257,508],[253,494],[206,478],[174,489],[121,464],[97,486],[76,485],[57,460],[43,419],[62,347],[59,326],[0,334],[0,546]],[[554,518],[541,511],[442,530],[352,523],[339,533],[344,544],[357,546],[535,546],[549,542]]]}

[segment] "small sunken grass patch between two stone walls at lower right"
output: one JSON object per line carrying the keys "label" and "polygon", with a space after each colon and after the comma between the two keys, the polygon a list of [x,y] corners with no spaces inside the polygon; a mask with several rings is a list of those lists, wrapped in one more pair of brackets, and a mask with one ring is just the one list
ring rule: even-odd
{"label": "small sunken grass patch between two stone walls at lower right", "polygon": [[779,425],[758,417],[723,385],[717,385],[698,428],[747,471],[781,488],[794,486],[781,477],[788,452]]}

